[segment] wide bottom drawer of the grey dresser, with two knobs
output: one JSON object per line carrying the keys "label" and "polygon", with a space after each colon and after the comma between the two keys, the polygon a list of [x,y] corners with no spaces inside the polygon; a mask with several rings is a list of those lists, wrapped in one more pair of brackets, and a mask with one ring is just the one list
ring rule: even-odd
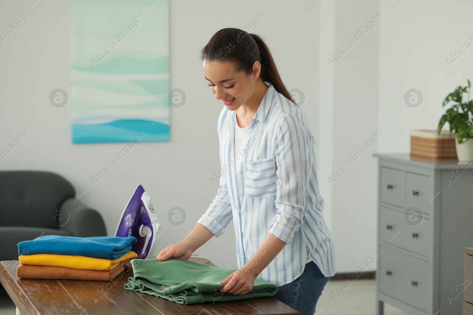
{"label": "wide bottom drawer of the grey dresser, with two knobs", "polygon": [[430,264],[381,246],[379,291],[425,312],[432,303]]}

